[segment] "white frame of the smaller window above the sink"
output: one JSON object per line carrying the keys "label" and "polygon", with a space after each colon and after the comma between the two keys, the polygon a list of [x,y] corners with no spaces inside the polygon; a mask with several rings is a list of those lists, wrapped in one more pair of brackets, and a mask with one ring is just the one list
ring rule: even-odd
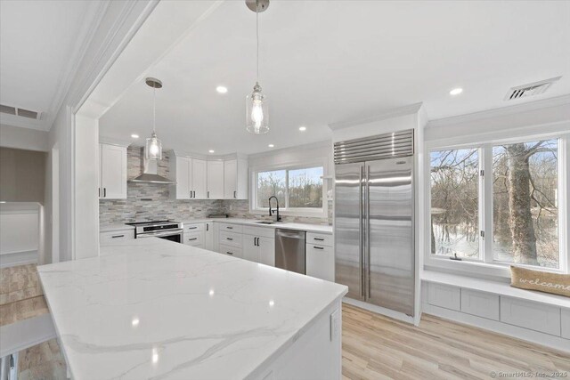
{"label": "white frame of the smaller window above the sink", "polygon": [[[289,170],[306,169],[312,167],[322,167],[322,207],[288,207],[289,206]],[[276,170],[285,170],[285,206],[279,207],[279,214],[290,216],[305,216],[315,218],[326,218],[329,214],[328,183],[326,181],[328,166],[327,158],[317,158],[305,162],[290,162],[288,164],[275,164],[267,166],[256,166],[249,168],[249,213],[267,214],[268,207],[257,206],[257,174]]]}

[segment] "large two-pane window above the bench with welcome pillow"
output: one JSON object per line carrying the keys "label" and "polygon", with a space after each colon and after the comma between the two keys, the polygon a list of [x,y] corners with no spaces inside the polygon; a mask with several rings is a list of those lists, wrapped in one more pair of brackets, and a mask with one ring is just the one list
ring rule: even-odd
{"label": "large two-pane window above the bench with welcome pillow", "polygon": [[559,269],[558,144],[431,151],[431,255]]}

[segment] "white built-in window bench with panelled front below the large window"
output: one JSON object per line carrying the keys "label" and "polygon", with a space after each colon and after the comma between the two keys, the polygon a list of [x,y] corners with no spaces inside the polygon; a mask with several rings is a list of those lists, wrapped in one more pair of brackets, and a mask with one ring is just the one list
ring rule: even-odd
{"label": "white built-in window bench with panelled front below the large window", "polygon": [[422,311],[570,352],[570,298],[423,271]]}

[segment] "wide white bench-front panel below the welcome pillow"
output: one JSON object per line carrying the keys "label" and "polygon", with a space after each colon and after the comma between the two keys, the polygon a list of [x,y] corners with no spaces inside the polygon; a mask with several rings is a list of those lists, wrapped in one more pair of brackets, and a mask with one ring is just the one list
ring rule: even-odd
{"label": "wide white bench-front panel below the welcome pillow", "polygon": [[501,296],[501,322],[560,336],[560,308]]}

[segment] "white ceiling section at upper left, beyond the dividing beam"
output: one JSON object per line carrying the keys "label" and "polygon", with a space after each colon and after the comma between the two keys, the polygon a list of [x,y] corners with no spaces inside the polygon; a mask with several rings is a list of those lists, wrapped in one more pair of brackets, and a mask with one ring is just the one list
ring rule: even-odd
{"label": "white ceiling section at upper left, beyond the dividing beam", "polygon": [[0,103],[42,112],[2,124],[49,130],[104,2],[0,1]]}

